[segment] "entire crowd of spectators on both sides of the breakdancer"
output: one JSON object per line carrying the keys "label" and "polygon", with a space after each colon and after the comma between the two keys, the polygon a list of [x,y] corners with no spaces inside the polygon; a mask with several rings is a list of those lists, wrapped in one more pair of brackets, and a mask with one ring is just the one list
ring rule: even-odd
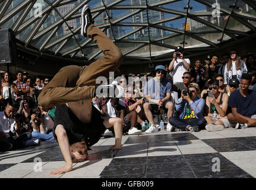
{"label": "entire crowd of spectators on both sides of the breakdancer", "polygon": [[[128,135],[160,131],[160,120],[170,132],[256,126],[255,61],[252,53],[241,57],[231,50],[191,63],[179,46],[170,64],[157,65],[150,74],[109,78],[108,84],[122,88],[122,96],[96,94],[92,104],[103,117],[121,118],[123,132]],[[54,139],[55,109],[45,112],[37,103],[50,79],[30,77],[27,72],[17,72],[15,77],[12,80],[8,72],[2,74],[0,151]],[[103,137],[113,135],[110,128]]]}

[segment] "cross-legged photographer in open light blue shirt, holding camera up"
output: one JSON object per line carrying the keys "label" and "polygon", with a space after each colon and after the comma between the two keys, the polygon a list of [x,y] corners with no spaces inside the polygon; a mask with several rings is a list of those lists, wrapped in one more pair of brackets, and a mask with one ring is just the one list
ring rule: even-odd
{"label": "cross-legged photographer in open light blue shirt, holding camera up", "polygon": [[168,131],[175,131],[179,128],[186,131],[198,132],[204,128],[206,119],[204,119],[204,99],[198,97],[199,86],[194,83],[188,87],[189,91],[182,90],[181,97],[175,103],[177,117],[170,117],[171,128]]}

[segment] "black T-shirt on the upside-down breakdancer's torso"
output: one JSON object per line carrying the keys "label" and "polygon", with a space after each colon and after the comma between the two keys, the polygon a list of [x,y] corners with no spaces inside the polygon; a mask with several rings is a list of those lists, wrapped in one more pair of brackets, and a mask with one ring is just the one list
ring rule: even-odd
{"label": "black T-shirt on the upside-down breakdancer's torso", "polygon": [[63,125],[67,132],[69,144],[85,141],[87,147],[90,147],[97,143],[102,136],[102,132],[104,132],[106,128],[103,125],[104,119],[102,118],[102,113],[100,113],[93,105],[91,107],[91,122],[89,124],[84,124],[74,115],[67,105],[56,106],[52,130],[55,139],[58,141],[55,134],[56,126]]}

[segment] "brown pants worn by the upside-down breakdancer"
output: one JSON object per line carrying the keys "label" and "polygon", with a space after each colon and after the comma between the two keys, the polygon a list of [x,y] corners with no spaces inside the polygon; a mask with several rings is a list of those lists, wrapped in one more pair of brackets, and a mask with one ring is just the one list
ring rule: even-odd
{"label": "brown pants worn by the upside-down breakdancer", "polygon": [[96,78],[109,78],[110,71],[116,71],[123,58],[119,48],[93,24],[87,29],[87,36],[97,43],[104,56],[89,66],[69,65],[61,68],[41,91],[38,104],[44,110],[67,102],[92,99],[96,90]]}

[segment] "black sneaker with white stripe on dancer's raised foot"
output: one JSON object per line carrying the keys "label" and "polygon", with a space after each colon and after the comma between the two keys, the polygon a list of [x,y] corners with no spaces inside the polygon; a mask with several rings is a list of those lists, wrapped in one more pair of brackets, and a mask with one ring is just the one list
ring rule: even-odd
{"label": "black sneaker with white stripe on dancer's raised foot", "polygon": [[88,27],[94,23],[93,18],[91,17],[91,10],[89,5],[84,5],[84,8],[81,13],[81,35],[87,37],[87,29]]}

